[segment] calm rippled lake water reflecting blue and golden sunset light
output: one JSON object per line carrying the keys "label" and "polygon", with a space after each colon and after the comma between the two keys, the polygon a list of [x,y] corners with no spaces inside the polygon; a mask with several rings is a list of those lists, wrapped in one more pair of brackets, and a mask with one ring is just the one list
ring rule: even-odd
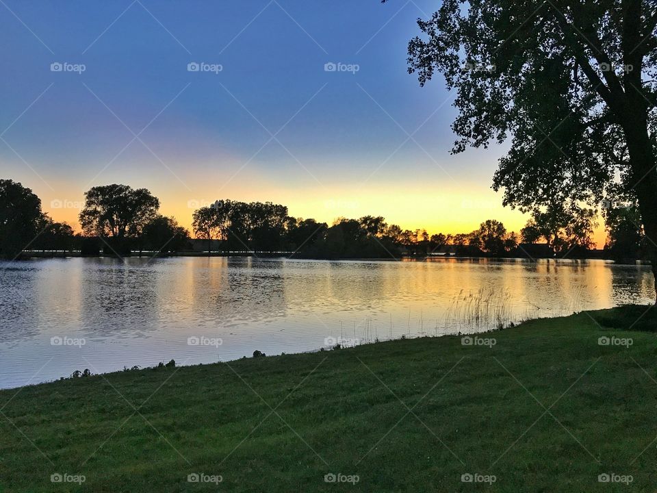
{"label": "calm rippled lake water reflecting blue and golden sunset light", "polygon": [[75,258],[0,264],[0,288],[2,388],[654,300],[649,268],[602,261]]}

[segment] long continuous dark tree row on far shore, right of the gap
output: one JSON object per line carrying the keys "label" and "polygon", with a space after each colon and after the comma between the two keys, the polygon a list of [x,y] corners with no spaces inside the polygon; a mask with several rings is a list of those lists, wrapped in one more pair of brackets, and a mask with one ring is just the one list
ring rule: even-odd
{"label": "long continuous dark tree row on far shore, right of the gap", "polygon": [[528,250],[533,249],[523,247],[523,243],[544,242],[545,249],[539,251],[543,256],[583,257],[593,247],[595,217],[593,210],[554,207],[536,210],[520,234],[489,219],[470,233],[429,236],[425,229],[411,231],[389,225],[381,216],[337,218],[329,227],[315,219],[291,217],[283,205],[217,201],[194,212],[192,228],[196,238],[207,240],[208,253],[212,240],[216,240],[218,251],[286,252],[313,258],[420,257],[439,253],[532,257]]}

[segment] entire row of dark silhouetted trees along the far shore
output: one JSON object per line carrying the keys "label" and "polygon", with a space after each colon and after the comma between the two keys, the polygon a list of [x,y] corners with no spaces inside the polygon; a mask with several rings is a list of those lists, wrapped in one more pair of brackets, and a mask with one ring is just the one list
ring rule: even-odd
{"label": "entire row of dark silhouetted trees along the far shore", "polygon": [[[567,201],[531,212],[520,233],[489,219],[469,233],[429,235],[425,229],[402,229],[382,216],[337,218],[332,225],[294,218],[285,205],[270,202],[216,201],[192,214],[196,240],[206,251],[285,254],[307,258],[389,258],[410,255],[570,256],[583,257],[593,247],[597,212]],[[641,215],[636,205],[606,206],[606,255],[634,260],[647,255]],[[90,188],[79,213],[82,228],[74,233],[42,212],[29,188],[0,179],[0,256],[22,251],[81,251],[83,255],[150,255],[189,251],[190,232],[175,218],[159,214],[159,199],[144,188],[112,184]],[[531,245],[541,244],[539,254]],[[529,253],[528,253],[529,252]]]}

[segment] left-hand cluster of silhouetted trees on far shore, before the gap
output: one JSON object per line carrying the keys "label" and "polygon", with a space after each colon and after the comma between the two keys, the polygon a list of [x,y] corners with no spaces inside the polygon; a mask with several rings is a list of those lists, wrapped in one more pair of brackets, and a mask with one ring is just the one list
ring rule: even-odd
{"label": "left-hand cluster of silhouetted trees on far shore, before the gap", "polygon": [[91,188],[79,214],[81,233],[42,212],[29,188],[0,179],[0,257],[23,251],[81,251],[87,255],[170,253],[190,248],[190,234],[175,218],[158,214],[159,200],[145,189],[125,185]]}

